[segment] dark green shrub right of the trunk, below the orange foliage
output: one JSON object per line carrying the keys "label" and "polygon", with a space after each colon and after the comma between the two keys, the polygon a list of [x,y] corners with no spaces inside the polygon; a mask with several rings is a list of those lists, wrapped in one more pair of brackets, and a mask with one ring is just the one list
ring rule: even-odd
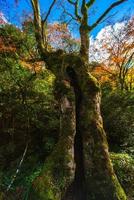
{"label": "dark green shrub right of the trunk, below the orange foliage", "polygon": [[103,96],[102,114],[111,150],[122,149],[133,153],[134,95],[116,92]]}

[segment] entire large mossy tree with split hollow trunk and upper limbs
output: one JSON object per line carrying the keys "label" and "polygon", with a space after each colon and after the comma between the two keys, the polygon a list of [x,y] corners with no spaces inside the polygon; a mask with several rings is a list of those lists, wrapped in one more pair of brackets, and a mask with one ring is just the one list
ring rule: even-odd
{"label": "entire large mossy tree with split hollow trunk and upper limbs", "polygon": [[68,0],[79,23],[79,55],[63,50],[49,52],[44,40],[44,24],[38,0],[31,0],[35,36],[46,67],[55,75],[55,96],[59,101],[60,139],[33,182],[31,200],[126,200],[114,173],[103,121],[100,113],[101,92],[97,80],[89,73],[89,33],[116,6],[110,5],[92,25],[88,13],[95,0]]}

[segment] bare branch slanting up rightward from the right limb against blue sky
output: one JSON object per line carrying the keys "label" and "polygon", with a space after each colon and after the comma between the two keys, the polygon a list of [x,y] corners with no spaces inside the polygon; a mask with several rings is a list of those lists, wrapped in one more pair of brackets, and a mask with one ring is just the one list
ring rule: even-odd
{"label": "bare branch slanting up rightward from the right limb against blue sky", "polygon": [[106,17],[106,15],[107,15],[113,8],[115,8],[116,6],[118,6],[118,5],[122,4],[122,3],[124,3],[125,1],[127,1],[127,0],[118,0],[117,2],[111,4],[111,5],[109,6],[109,8],[107,8],[106,11],[97,19],[97,21],[96,21],[93,25],[91,25],[91,26],[89,27],[89,30],[90,30],[90,31],[93,30],[93,29],[104,19],[104,17]]}

